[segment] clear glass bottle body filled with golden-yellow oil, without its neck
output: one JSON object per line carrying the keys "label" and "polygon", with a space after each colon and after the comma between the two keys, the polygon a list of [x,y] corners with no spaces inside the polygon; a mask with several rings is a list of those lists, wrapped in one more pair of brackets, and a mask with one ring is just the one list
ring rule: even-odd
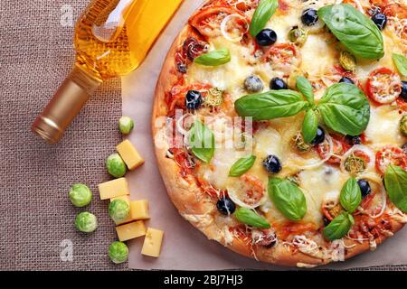
{"label": "clear glass bottle body filled with golden-yellow oil, without its neck", "polygon": [[137,69],[183,0],[92,0],[75,28],[76,65],[99,79]]}

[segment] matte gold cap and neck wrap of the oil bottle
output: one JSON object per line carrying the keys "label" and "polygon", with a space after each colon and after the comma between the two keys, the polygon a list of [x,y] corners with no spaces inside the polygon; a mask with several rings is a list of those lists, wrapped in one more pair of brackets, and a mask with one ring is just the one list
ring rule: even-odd
{"label": "matte gold cap and neck wrap of the oil bottle", "polygon": [[101,80],[75,67],[43,109],[43,113],[33,122],[33,132],[48,144],[56,144],[100,83]]}

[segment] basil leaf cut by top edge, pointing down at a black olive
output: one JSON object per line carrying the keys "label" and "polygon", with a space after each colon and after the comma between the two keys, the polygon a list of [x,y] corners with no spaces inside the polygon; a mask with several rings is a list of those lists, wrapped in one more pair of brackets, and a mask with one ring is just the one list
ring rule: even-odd
{"label": "basil leaf cut by top edge, pointing down at a black olive", "polygon": [[251,36],[256,37],[256,35],[260,33],[278,7],[278,0],[260,0],[256,11],[251,18],[251,27],[249,28]]}

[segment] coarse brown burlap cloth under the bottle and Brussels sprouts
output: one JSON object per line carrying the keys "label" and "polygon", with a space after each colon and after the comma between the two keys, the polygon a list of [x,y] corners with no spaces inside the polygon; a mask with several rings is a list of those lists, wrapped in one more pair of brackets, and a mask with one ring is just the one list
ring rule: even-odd
{"label": "coarse brown burlap cloth under the bottle and Brussels sprouts", "polygon": [[[29,127],[73,63],[72,26],[61,23],[62,5],[75,21],[85,0],[3,0],[0,6],[0,269],[124,270],[107,256],[116,239],[107,202],[97,184],[109,180],[105,158],[120,141],[120,82],[105,83],[55,146],[43,144]],[[151,85],[154,85],[153,83]],[[98,230],[83,235],[73,227],[72,183],[90,185],[89,208]],[[72,261],[62,261],[63,240],[71,240]],[[367,270],[406,270],[406,266]]]}

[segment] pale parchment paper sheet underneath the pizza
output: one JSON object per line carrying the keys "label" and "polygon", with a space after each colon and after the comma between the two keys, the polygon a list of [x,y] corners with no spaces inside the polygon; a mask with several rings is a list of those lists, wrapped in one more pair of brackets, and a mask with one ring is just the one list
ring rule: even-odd
{"label": "pale parchment paper sheet underneath the pizza", "polygon": [[[198,229],[183,219],[169,200],[161,176],[156,167],[150,119],[154,101],[156,79],[166,52],[176,34],[185,25],[189,15],[203,0],[185,0],[180,10],[156,42],[141,67],[123,79],[123,114],[135,120],[135,130],[129,136],[146,163],[127,175],[131,199],[147,198],[150,201],[151,220],[147,226],[165,231],[164,244],[159,258],[141,256],[144,238],[129,241],[129,267],[137,269],[168,270],[219,270],[219,269],[289,269],[263,264],[240,256],[216,241],[205,238]],[[375,252],[356,256],[323,268],[345,269],[364,266],[407,264],[407,228],[379,246]]]}

